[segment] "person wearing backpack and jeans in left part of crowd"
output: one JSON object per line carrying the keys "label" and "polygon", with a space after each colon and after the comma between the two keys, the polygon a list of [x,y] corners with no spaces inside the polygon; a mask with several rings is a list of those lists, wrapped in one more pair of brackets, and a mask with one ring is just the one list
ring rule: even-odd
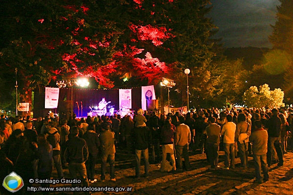
{"label": "person wearing backpack and jeans in left part of crowd", "polygon": [[47,140],[53,147],[53,160],[55,164],[55,168],[57,169],[58,177],[63,178],[63,169],[61,164],[60,157],[60,134],[56,129],[56,123],[54,121],[50,121],[48,123],[48,132],[47,132]]}

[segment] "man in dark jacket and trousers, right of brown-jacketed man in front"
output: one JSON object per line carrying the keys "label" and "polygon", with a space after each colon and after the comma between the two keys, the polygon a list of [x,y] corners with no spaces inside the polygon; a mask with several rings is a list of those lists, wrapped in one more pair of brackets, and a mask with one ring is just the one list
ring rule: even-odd
{"label": "man in dark jacket and trousers, right of brown-jacketed man in front", "polygon": [[281,134],[281,118],[278,117],[278,110],[272,109],[272,117],[268,120],[268,153],[267,160],[268,166],[271,166],[272,163],[272,151],[275,148],[277,156],[279,159],[278,166],[283,166],[283,153],[280,145],[280,134]]}

